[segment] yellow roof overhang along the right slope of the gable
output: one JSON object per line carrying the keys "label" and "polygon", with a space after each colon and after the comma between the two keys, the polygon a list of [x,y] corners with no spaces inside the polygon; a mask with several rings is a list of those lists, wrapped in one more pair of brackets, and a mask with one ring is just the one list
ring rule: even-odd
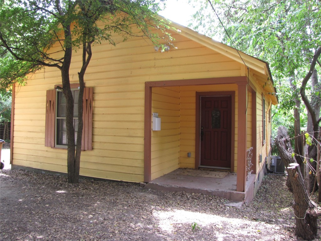
{"label": "yellow roof overhang along the right slope of the gable", "polygon": [[160,16],[160,18],[163,19],[164,21],[169,22],[169,26],[172,26],[175,29],[179,30],[179,33],[184,37],[194,40],[209,49],[212,49],[220,54],[223,54],[241,63],[242,65],[245,64],[248,68],[253,70],[253,76],[259,82],[259,84],[264,86],[266,91],[265,94],[271,95],[272,103],[273,104],[278,103],[277,97],[274,94],[276,93],[276,88],[273,86],[274,83],[273,83],[270,67],[266,61],[250,56],[242,51],[232,48],[219,41],[213,40],[212,38],[207,37],[204,34],[191,30],[178,23],[172,22],[162,16]]}

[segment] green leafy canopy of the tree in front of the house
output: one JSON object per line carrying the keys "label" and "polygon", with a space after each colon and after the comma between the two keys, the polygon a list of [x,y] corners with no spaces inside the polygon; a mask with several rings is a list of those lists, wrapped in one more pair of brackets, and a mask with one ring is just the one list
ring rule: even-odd
{"label": "green leafy canopy of the tree in front of the house", "polygon": [[[28,73],[42,67],[61,67],[67,47],[80,49],[83,41],[92,44],[108,41],[116,45],[128,38],[147,37],[157,43],[160,38],[149,27],[165,30],[168,26],[157,19],[158,2],[150,1],[70,1],[7,0],[0,2],[1,86],[22,83]],[[98,26],[97,21],[103,23]],[[72,23],[69,36],[64,36]],[[138,28],[142,32],[137,33]],[[165,31],[164,31],[165,32]],[[113,34],[123,36],[114,40]],[[61,58],[51,58],[54,44],[62,46]]]}

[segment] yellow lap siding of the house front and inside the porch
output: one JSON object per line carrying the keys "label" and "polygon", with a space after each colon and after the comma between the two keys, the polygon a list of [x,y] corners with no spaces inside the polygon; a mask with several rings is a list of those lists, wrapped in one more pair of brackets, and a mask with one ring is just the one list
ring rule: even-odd
{"label": "yellow lap siding of the house front and inside the porch", "polygon": [[[85,86],[93,87],[93,150],[82,152],[81,175],[143,181],[146,81],[241,75],[239,63],[177,33],[172,34],[177,49],[171,47],[163,53],[154,51],[150,41],[142,38],[122,42],[118,36],[115,38],[119,42],[116,47],[108,43],[93,46],[93,56],[84,77]],[[57,49],[52,49],[55,51]],[[78,83],[81,63],[82,51],[79,50],[73,53],[71,83]],[[47,67],[31,75],[26,86],[16,88],[14,165],[67,171],[66,150],[44,146],[46,91],[57,84],[61,84],[61,72]],[[208,86],[197,88],[209,91]],[[217,86],[211,88],[217,90]],[[153,107],[162,118],[159,132],[162,134],[155,133],[152,139],[152,177],[178,168],[179,156],[181,167],[193,167],[186,152],[195,156],[195,103],[190,105],[191,101],[187,100],[191,97],[190,92],[195,95],[195,88],[184,89],[188,98],[181,103],[179,87],[160,89],[162,92],[154,93],[155,98],[168,96],[168,102],[163,108],[165,102],[159,100]],[[223,89],[230,90],[228,86]],[[181,146],[179,135],[183,137]]]}

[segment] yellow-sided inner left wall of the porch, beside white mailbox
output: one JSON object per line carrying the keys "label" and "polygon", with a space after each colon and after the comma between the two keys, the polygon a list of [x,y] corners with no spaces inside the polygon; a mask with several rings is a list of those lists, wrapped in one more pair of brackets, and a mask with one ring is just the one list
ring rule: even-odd
{"label": "yellow-sided inner left wall of the porch, beside white mailbox", "polygon": [[152,88],[153,112],[161,119],[161,130],[152,131],[151,166],[155,179],[179,167],[179,87]]}

